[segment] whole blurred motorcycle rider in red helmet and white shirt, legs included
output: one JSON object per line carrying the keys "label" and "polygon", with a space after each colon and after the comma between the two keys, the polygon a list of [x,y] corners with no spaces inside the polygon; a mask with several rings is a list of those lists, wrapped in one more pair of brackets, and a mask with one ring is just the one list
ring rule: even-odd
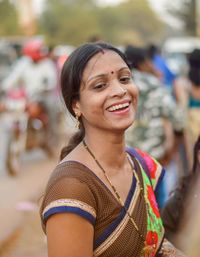
{"label": "whole blurred motorcycle rider in red helmet and white shirt, legs included", "polygon": [[[41,37],[31,38],[22,49],[23,56],[14,69],[2,82],[2,88],[9,91],[14,86],[23,87],[28,97],[28,110],[32,117],[38,115],[44,126],[55,109],[53,91],[57,84],[57,72],[54,63],[47,57],[47,48]],[[40,115],[39,105],[47,110],[47,116]],[[49,122],[52,130],[52,123]]]}

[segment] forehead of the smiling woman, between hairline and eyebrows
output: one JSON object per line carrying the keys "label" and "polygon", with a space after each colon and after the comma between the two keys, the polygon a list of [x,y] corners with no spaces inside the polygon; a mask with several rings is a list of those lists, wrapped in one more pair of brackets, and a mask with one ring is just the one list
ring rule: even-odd
{"label": "forehead of the smiling woman, between hairline and eyebrows", "polygon": [[83,78],[117,71],[122,67],[127,67],[127,64],[119,54],[110,50],[100,52],[94,55],[87,63],[83,72]]}

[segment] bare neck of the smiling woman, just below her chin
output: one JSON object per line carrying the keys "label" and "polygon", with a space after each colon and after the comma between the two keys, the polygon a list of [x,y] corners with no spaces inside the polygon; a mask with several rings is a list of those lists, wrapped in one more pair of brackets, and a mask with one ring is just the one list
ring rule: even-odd
{"label": "bare neck of the smiling woman, just below her chin", "polygon": [[111,169],[122,168],[127,163],[125,152],[124,133],[104,133],[94,136],[92,133],[85,135],[85,142],[95,158]]}

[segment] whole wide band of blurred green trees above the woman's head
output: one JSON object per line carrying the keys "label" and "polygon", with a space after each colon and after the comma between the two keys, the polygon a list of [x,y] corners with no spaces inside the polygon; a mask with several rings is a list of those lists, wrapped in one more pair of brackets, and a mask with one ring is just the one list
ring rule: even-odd
{"label": "whole wide band of blurred green trees above the woman's head", "polygon": [[147,0],[129,0],[99,7],[95,0],[48,0],[39,32],[49,43],[77,46],[92,36],[112,44],[145,44],[162,37],[164,24]]}

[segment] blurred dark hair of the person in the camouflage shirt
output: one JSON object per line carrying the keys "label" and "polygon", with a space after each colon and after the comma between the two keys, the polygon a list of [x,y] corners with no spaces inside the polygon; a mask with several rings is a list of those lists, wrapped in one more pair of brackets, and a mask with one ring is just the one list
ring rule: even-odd
{"label": "blurred dark hair of the person in the camouflage shirt", "polygon": [[144,48],[128,45],[125,49],[126,58],[131,68],[138,69],[139,65],[144,63],[148,57]]}

